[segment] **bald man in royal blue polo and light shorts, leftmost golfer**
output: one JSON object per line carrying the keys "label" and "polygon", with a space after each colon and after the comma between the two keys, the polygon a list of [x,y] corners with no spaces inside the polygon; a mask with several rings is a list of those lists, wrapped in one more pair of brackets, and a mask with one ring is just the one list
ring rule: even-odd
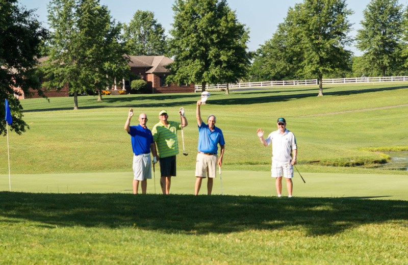
{"label": "bald man in royal blue polo and light shorts, leftmost golfer", "polygon": [[156,145],[153,142],[151,131],[147,128],[147,116],[139,115],[139,125],[130,126],[133,109],[129,110],[124,129],[131,135],[133,149],[133,194],[137,194],[139,181],[142,182],[142,193],[146,194],[147,179],[151,179],[150,150],[153,155],[153,164],[157,162]]}

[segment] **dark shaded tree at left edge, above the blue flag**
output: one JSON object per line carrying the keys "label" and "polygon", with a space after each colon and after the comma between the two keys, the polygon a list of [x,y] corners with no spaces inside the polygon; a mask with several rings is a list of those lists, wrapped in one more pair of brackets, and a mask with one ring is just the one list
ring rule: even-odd
{"label": "dark shaded tree at left edge, above the blue flag", "polygon": [[0,1],[0,134],[6,135],[5,99],[13,117],[11,130],[21,135],[30,128],[22,119],[20,101],[14,96],[13,87],[20,88],[30,97],[29,88],[42,95],[35,66],[40,55],[40,44],[47,31],[37,20],[34,10],[17,5],[17,0]]}

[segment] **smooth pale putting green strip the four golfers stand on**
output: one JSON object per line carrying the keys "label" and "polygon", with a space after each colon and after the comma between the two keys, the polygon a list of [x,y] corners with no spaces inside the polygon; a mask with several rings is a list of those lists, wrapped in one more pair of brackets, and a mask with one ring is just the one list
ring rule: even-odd
{"label": "smooth pale putting green strip the four golfers stand on", "polygon": [[[195,177],[192,170],[180,170],[172,178],[170,193],[193,194]],[[156,172],[156,193],[160,193],[160,173]],[[408,200],[405,175],[302,173],[293,179],[296,197],[358,197]],[[220,178],[214,181],[213,194],[221,193]],[[274,179],[265,171],[223,171],[223,194],[275,196]],[[140,188],[139,188],[140,189]],[[0,175],[0,191],[9,190],[9,176]],[[39,193],[132,193],[132,172],[11,175],[13,192]],[[154,182],[148,180],[147,193],[154,193]],[[207,193],[203,180],[200,194]],[[285,182],[283,195],[286,195]]]}

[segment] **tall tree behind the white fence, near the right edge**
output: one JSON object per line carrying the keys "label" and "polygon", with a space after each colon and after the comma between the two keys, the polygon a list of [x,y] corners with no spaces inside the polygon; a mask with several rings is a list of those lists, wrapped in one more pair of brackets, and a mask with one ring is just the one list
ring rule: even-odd
{"label": "tall tree behind the white fence, near the right edge", "polygon": [[402,6],[398,0],[372,0],[363,16],[356,46],[364,52],[368,67],[374,66],[385,76],[400,57]]}

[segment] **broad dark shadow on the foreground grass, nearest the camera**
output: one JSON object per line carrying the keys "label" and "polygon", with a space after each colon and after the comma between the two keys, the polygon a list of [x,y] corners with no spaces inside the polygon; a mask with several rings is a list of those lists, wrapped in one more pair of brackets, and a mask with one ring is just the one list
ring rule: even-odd
{"label": "broad dark shadow on the foreground grass, nearest the camera", "polygon": [[2,222],[30,221],[40,227],[137,227],[186,234],[303,228],[309,235],[323,235],[408,220],[408,201],[366,198],[0,192],[0,216]]}

